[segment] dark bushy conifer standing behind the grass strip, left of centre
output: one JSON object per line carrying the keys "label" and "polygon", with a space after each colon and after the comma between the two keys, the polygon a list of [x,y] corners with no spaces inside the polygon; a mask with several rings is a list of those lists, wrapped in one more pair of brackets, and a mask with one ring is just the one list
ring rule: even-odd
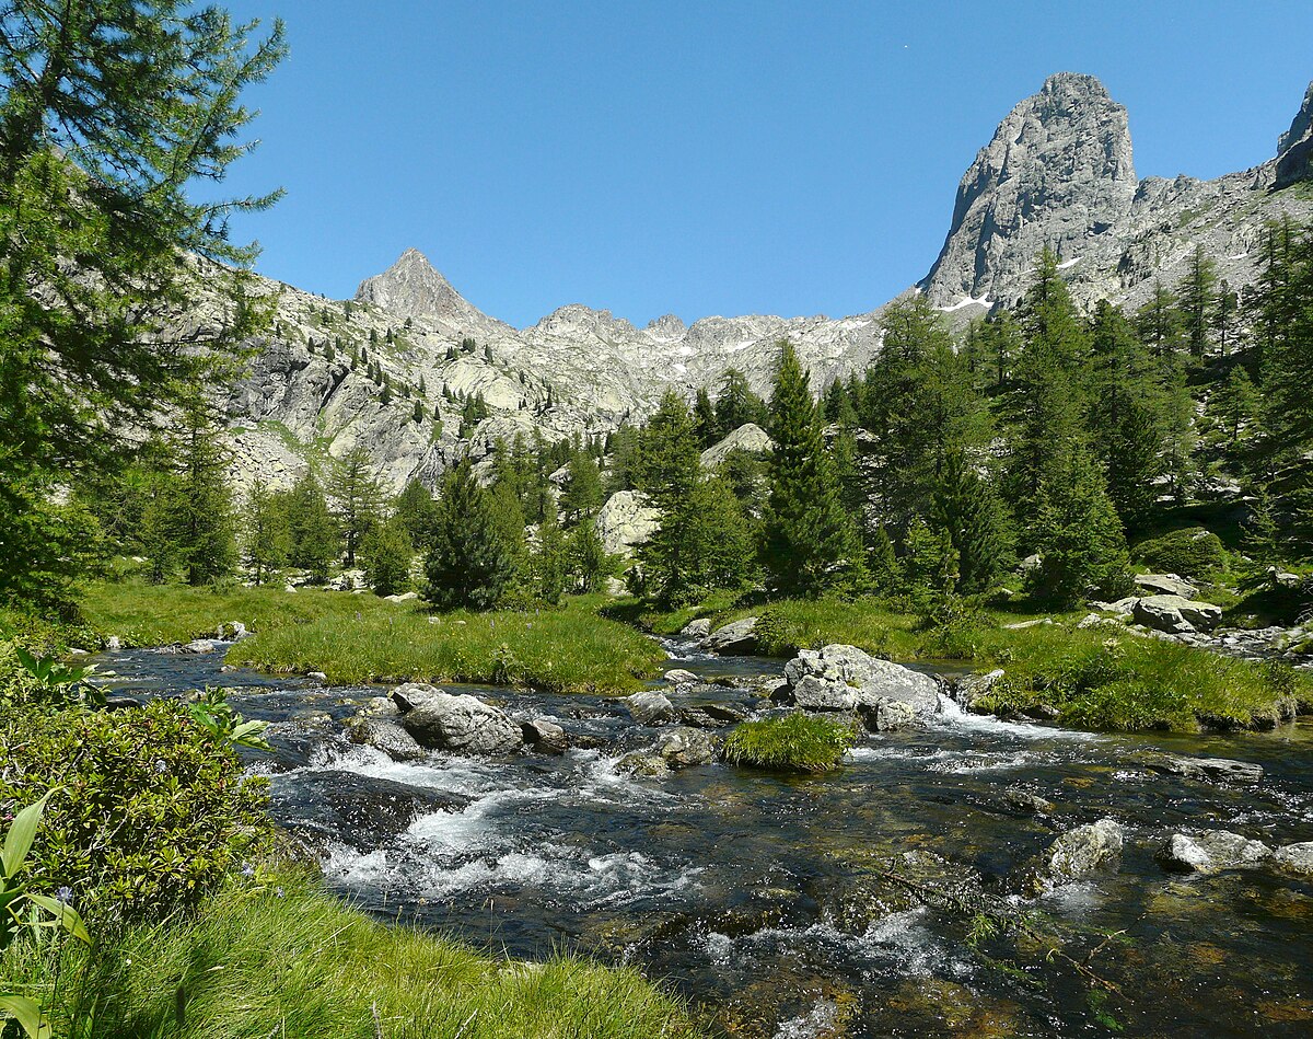
{"label": "dark bushy conifer standing behind the grass strip, left of centre", "polygon": [[515,578],[515,558],[463,458],[446,474],[424,561],[427,598],[441,609],[491,609]]}

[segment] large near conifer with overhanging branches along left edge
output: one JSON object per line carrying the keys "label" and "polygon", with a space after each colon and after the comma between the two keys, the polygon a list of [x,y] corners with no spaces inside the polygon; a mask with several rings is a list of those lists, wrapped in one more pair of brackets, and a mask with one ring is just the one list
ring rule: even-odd
{"label": "large near conifer with overhanging branches along left edge", "polygon": [[[260,331],[246,272],[256,251],[230,240],[228,219],[276,196],[193,188],[251,147],[242,91],[284,50],[281,25],[260,41],[217,8],[5,5],[0,595],[72,575],[83,556],[42,544],[76,536],[50,506],[56,486],[118,469],[143,430]],[[175,318],[202,297],[213,319],[184,334]]]}

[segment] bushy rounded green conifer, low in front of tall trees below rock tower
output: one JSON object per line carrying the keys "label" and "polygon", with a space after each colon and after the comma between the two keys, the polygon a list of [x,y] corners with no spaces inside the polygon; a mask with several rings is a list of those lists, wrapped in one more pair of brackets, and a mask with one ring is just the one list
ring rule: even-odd
{"label": "bushy rounded green conifer, low in front of tall trees below rock tower", "polygon": [[1040,485],[1031,539],[1041,557],[1031,578],[1037,598],[1071,607],[1087,596],[1129,594],[1121,520],[1098,462],[1085,451],[1069,452]]}

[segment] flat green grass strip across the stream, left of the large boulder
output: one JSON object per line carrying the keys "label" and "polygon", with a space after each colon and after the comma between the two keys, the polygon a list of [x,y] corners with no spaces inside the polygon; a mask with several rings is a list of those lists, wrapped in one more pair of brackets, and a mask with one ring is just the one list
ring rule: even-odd
{"label": "flat green grass strip across the stream, left of the large boulder", "polygon": [[597,598],[541,612],[441,613],[420,608],[336,613],[239,642],[231,663],[270,673],[323,671],[334,683],[490,682],[565,692],[625,692],[666,654],[597,615]]}

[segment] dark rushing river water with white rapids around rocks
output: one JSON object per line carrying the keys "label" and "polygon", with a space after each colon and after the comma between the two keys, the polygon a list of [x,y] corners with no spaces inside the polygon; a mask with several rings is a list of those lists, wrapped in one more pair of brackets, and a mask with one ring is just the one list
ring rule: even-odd
{"label": "dark rushing river water with white rapids around rocks", "polygon": [[[632,963],[726,1035],[1313,1035],[1313,885],[1267,870],[1186,879],[1154,860],[1186,828],[1313,841],[1308,721],[1127,737],[949,707],[927,729],[864,738],[829,776],[708,764],[656,780],[617,770],[655,733],[607,697],[446,687],[597,746],[395,763],[341,736],[381,690],[222,671],[222,646],[105,662],[125,692],[226,686],[246,716],[270,721],[276,753],[251,763],[270,776],[273,814],[320,849],[330,885],[357,904],[511,956]],[[671,666],[734,680],[780,670]],[[1145,761],[1162,750],[1257,762],[1264,778],[1161,775]],[[1018,792],[1054,808],[1028,810]],[[1096,979],[1024,937],[973,946],[962,913],[914,904],[888,880],[911,852],[936,881],[1007,896],[1057,834],[1104,817],[1125,828],[1119,870],[1010,902],[1073,959],[1092,952]]]}

